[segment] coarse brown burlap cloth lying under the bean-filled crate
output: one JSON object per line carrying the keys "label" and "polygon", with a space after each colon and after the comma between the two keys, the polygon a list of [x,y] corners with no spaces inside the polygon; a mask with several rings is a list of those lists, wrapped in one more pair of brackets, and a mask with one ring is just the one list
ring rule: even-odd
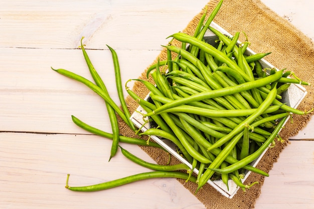
{"label": "coarse brown burlap cloth lying under the bean-filled crate", "polygon": [[[217,0],[212,0],[208,3],[208,14],[211,13],[217,3]],[[187,28],[182,31],[193,34],[202,14],[203,10],[200,8],[200,14],[196,15],[188,24]],[[263,5],[259,0],[225,0],[214,22],[232,35],[237,31],[244,31],[249,41],[252,43],[250,49],[254,52],[271,52],[271,54],[266,57],[268,62],[278,69],[286,68],[287,70],[295,72],[296,75],[304,81],[314,83],[314,48],[311,40],[286,20]],[[240,40],[244,41],[244,36],[240,37]],[[166,43],[161,43],[161,45],[162,44]],[[173,44],[181,46],[180,43],[177,42]],[[167,59],[166,51],[162,51],[159,57],[161,60]],[[156,62],[156,60],[152,63]],[[145,79],[144,69],[140,78]],[[301,110],[309,110],[313,107],[313,86],[306,86],[305,88],[308,94],[298,107]],[[133,91],[142,98],[148,93],[139,83],[134,84]],[[127,98],[127,102],[131,112],[138,106],[137,103],[129,97]],[[288,144],[288,137],[295,135],[302,129],[309,118],[310,114],[306,116],[293,115],[293,123],[287,122],[285,128],[282,129],[280,133],[285,143],[277,143],[274,148],[268,149],[257,167],[268,172],[276,161],[279,153],[284,146]],[[136,137],[126,125],[120,125],[121,134]],[[165,164],[169,159],[168,153],[158,148],[142,147],[142,149],[157,163]],[[178,163],[178,161],[172,157],[171,163]],[[184,180],[179,181],[194,194],[197,188],[195,183],[185,183]],[[253,208],[255,200],[259,196],[260,188],[263,185],[264,177],[252,173],[246,180],[246,183],[254,181],[259,181],[260,183],[247,189],[245,193],[242,189],[239,189],[232,199],[223,196],[209,184],[206,184],[203,189],[196,194],[196,197],[203,202],[207,208]]]}

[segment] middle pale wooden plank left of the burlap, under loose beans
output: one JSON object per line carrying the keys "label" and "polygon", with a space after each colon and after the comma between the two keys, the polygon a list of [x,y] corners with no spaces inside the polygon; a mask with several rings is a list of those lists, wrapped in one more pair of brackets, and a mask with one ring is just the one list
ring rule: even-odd
{"label": "middle pale wooden plank left of the burlap, under loose beans", "polygon": [[[50,66],[65,68],[92,80],[81,50],[4,48],[2,52],[6,56],[0,56],[0,130],[86,133],[72,124],[71,114],[110,130],[102,98],[85,85],[50,69]],[[111,53],[109,50],[87,52],[109,94],[119,104]],[[122,84],[140,76],[159,53],[117,50]],[[147,59],[138,59],[141,56]],[[132,82],[128,86],[132,87]]]}

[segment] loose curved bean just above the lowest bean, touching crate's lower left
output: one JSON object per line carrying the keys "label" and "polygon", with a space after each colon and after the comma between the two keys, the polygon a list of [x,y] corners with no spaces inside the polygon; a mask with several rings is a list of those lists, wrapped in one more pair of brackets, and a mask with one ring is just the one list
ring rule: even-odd
{"label": "loose curved bean just above the lowest bean, touching crate's lower left", "polygon": [[158,170],[158,171],[187,170],[187,171],[189,171],[191,169],[187,164],[184,164],[184,163],[178,163],[175,165],[160,165],[160,164],[154,164],[154,163],[146,162],[146,161],[136,157],[135,155],[133,155],[129,151],[123,149],[121,146],[120,146],[120,149],[121,149],[121,153],[125,157],[130,159],[131,161],[133,161],[133,162],[135,162],[135,163],[137,163],[143,167],[152,169],[152,170]]}

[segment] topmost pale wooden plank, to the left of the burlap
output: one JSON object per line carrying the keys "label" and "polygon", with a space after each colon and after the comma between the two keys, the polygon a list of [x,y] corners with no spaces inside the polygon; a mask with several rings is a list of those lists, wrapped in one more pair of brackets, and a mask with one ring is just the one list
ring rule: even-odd
{"label": "topmost pale wooden plank, to the left of the burlap", "polygon": [[[2,3],[0,47],[160,49],[183,30],[208,0],[53,1]],[[141,30],[139,30],[141,29]],[[157,43],[157,44],[156,44]]]}

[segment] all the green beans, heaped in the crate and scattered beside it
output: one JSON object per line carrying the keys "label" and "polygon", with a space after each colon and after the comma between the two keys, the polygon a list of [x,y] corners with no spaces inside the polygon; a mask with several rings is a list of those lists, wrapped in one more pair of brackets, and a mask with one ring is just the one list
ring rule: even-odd
{"label": "all the green beans, heaped in the crate and scattered beside it", "polygon": [[[89,126],[75,116],[72,116],[72,120],[91,133],[112,139],[109,160],[120,147],[125,157],[153,170],[80,187],[69,186],[68,175],[66,188],[75,191],[97,191],[147,178],[175,177],[197,183],[196,192],[209,180],[214,179],[221,179],[227,188],[228,180],[232,179],[245,190],[258,183],[243,184],[241,178],[247,171],[268,176],[267,172],[253,167],[250,163],[273,144],[276,138],[280,138],[278,133],[291,114],[308,113],[289,107],[280,100],[282,93],[291,83],[309,84],[301,81],[293,72],[263,69],[261,59],[270,53],[246,56],[244,52],[249,44],[238,43],[239,32],[233,37],[227,37],[212,28],[210,24],[221,5],[222,1],[206,22],[204,13],[194,35],[176,33],[168,37],[172,40],[164,46],[167,50],[167,59],[158,60],[147,70],[147,78],[150,76],[154,84],[146,80],[131,79],[141,82],[147,88],[150,92],[149,100],[140,98],[126,87],[129,96],[146,111],[143,114],[145,121],[153,121],[156,124],[155,128],[138,135],[154,135],[171,140],[178,147],[180,155],[192,165],[191,167],[183,163],[176,165],[148,163],[119,145],[119,142],[125,142],[162,148],[153,141],[146,143],[142,139],[119,135],[116,115],[119,115],[135,133],[139,131],[130,121],[130,113],[122,94],[117,55],[111,47],[108,46],[112,53],[122,110],[110,98],[82,43],[83,55],[95,84],[67,70],[55,70],[82,82],[105,100],[112,134]],[[215,46],[204,41],[207,30],[217,35]],[[174,40],[182,43],[182,46],[172,45]],[[194,169],[199,170],[197,176],[193,175]]]}

